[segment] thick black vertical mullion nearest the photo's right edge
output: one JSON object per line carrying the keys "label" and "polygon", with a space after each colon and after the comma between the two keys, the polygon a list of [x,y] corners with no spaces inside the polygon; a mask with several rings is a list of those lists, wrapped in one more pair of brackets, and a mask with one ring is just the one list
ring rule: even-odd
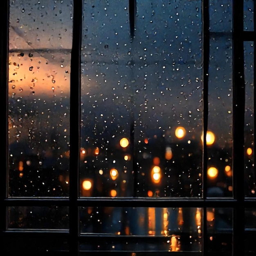
{"label": "thick black vertical mullion nearest the photo's right edge", "polygon": [[[233,191],[234,208],[233,255],[243,254],[245,232],[244,185],[244,112],[245,81],[243,52],[243,0],[233,2]],[[242,239],[241,239],[242,237]]]}

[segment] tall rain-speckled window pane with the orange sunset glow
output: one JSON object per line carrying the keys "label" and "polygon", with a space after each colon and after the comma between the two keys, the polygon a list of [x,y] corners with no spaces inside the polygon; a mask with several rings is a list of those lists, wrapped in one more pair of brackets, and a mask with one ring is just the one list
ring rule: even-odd
{"label": "tall rain-speckled window pane with the orange sunset glow", "polygon": [[9,196],[67,196],[72,1],[11,1]]}

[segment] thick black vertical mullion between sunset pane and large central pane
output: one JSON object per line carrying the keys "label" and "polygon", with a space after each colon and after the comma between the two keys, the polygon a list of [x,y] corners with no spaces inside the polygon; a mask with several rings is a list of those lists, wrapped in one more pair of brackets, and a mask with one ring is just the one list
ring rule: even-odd
{"label": "thick black vertical mullion between sunset pane and large central pane", "polygon": [[81,34],[83,1],[74,1],[73,42],[70,75],[70,253],[79,255],[79,153],[80,153],[80,87]]}

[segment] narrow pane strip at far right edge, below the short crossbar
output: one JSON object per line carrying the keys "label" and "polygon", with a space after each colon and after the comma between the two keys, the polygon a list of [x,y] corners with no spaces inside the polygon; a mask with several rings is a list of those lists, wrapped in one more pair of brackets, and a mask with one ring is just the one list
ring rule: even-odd
{"label": "narrow pane strip at far right edge, below the short crossbar", "polygon": [[254,43],[244,42],[245,61],[245,197],[255,197],[254,158]]}

